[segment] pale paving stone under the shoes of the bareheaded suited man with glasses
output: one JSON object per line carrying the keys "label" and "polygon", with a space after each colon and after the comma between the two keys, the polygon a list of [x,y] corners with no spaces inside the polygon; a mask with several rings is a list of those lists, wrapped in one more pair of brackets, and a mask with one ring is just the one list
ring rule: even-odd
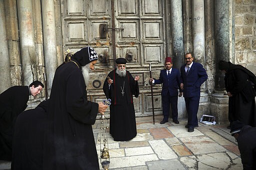
{"label": "pale paving stone under the shoes of the bareheaded suited man with glasses", "polygon": [[183,125],[171,126],[171,127],[168,127],[168,129],[176,138],[183,138],[183,137],[192,137],[192,136],[201,136],[201,135],[203,135],[196,128],[194,128],[194,132],[187,132],[187,128],[185,128]]}

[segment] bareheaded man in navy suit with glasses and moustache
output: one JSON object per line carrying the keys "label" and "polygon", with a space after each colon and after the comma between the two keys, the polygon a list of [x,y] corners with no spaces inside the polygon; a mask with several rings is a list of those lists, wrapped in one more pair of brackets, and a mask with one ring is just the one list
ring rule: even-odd
{"label": "bareheaded man in navy suit with glasses and moustache", "polygon": [[180,67],[180,88],[183,90],[187,112],[187,132],[193,132],[198,127],[197,111],[200,100],[200,86],[208,78],[205,69],[200,63],[193,62],[191,53],[185,54],[185,62]]}

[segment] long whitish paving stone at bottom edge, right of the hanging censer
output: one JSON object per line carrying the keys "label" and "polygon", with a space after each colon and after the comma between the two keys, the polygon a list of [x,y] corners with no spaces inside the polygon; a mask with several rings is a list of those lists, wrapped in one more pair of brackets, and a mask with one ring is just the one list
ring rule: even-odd
{"label": "long whitish paving stone at bottom edge, right of the hanging censer", "polygon": [[126,167],[136,167],[136,166],[145,166],[145,162],[148,161],[157,161],[159,160],[155,154],[151,155],[140,155],[140,156],[131,156],[131,157],[119,157],[119,158],[110,158],[110,167],[111,168],[126,168]]}

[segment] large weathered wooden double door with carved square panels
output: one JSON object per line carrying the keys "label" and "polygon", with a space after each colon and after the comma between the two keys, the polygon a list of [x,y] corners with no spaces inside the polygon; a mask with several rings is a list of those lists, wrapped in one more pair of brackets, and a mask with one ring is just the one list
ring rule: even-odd
{"label": "large weathered wooden double door with carved square panels", "polygon": [[[158,78],[166,53],[164,3],[162,0],[113,0],[112,4],[113,13],[111,0],[62,0],[63,52],[67,48],[76,52],[89,45],[99,55],[87,87],[89,100],[94,102],[105,99],[102,86],[108,72],[115,68],[114,58],[126,58],[126,69],[133,76],[140,76],[140,95],[134,98],[136,116],[152,115],[148,63],[153,63],[152,75]],[[161,114],[160,90],[160,85],[153,87],[155,114]]]}

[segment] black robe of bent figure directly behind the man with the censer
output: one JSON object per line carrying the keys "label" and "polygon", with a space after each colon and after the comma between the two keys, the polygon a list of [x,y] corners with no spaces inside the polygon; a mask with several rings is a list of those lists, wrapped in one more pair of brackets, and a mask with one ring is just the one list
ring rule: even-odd
{"label": "black robe of bent figure directly behind the man with the censer", "polygon": [[18,115],[13,132],[11,170],[42,170],[47,100]]}

